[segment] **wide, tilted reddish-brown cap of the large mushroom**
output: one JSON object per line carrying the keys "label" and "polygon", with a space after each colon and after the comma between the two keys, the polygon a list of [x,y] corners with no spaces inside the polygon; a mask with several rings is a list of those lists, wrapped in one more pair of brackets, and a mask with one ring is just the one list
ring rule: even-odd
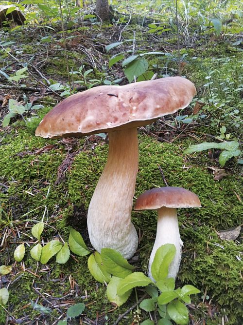
{"label": "wide, tilted reddish-brown cap of the large mushroom", "polygon": [[139,127],[185,108],[196,89],[181,77],[99,86],[59,102],[35,131],[43,138],[82,137]]}

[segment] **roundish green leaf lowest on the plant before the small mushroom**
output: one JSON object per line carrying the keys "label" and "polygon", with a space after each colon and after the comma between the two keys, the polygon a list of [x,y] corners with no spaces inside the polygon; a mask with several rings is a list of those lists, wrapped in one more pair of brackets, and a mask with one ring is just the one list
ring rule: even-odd
{"label": "roundish green leaf lowest on the plant before the small mushroom", "polygon": [[167,305],[170,318],[178,325],[187,325],[189,322],[188,309],[180,301],[176,300]]}

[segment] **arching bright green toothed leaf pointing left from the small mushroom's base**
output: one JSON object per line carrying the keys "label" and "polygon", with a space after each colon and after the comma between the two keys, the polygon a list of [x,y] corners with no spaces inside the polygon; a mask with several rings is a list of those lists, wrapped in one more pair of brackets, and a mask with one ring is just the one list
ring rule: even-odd
{"label": "arching bright green toothed leaf pointing left from the small mushroom's base", "polygon": [[146,277],[142,272],[134,272],[122,279],[117,288],[117,292],[119,295],[123,295],[126,291],[136,286],[147,286],[148,284],[153,284],[150,278]]}

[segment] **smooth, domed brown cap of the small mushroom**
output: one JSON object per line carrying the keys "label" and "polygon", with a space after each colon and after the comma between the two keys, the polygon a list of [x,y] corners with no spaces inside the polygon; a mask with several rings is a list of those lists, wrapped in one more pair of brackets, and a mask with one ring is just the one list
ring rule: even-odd
{"label": "smooth, domed brown cap of the small mushroom", "polygon": [[152,188],[142,193],[136,203],[135,210],[154,210],[162,206],[168,208],[201,207],[196,194],[182,187]]}

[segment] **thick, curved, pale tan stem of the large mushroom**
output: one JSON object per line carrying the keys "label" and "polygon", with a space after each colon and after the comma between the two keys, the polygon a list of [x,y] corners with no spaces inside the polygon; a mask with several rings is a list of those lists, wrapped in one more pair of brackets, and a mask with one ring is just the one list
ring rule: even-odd
{"label": "thick, curved, pale tan stem of the large mushroom", "polygon": [[139,160],[137,128],[108,135],[108,160],[88,208],[88,234],[98,252],[109,247],[129,259],[138,247],[138,235],[131,223]]}

